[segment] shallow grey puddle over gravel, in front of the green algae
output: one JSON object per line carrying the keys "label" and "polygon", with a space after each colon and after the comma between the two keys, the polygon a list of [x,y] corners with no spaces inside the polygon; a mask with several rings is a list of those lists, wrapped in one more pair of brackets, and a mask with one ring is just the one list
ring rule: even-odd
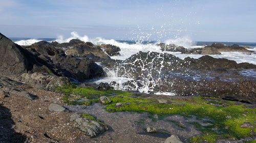
{"label": "shallow grey puddle over gravel, in front of the green algae", "polygon": [[[104,110],[104,106],[93,104],[83,108],[81,106],[65,106],[73,112],[89,113],[97,119],[104,121],[110,129],[100,136],[100,140],[105,142],[164,142],[172,134],[176,134],[183,139],[184,142],[189,142],[190,136],[201,134],[193,125],[186,122],[197,122],[196,118],[184,118],[182,116],[171,116],[164,120],[152,122],[148,118],[147,113],[131,113],[131,112],[108,112]],[[177,128],[177,125],[167,122],[168,120],[177,120],[183,123],[186,128]],[[201,123],[201,122],[200,122]],[[147,133],[144,129],[152,127],[159,129],[156,133]],[[111,139],[110,139],[111,137]],[[81,138],[80,141],[82,142]],[[88,139],[88,142],[92,142]]]}

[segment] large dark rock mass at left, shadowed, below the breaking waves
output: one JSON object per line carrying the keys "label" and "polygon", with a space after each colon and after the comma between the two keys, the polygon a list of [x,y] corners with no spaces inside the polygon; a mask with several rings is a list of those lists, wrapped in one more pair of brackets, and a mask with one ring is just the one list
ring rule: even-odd
{"label": "large dark rock mass at left, shadowed, below the breaking waves", "polygon": [[[40,73],[66,76],[84,81],[85,79],[103,76],[103,69],[88,58],[76,58],[65,54],[63,48],[76,46],[98,49],[90,42],[71,40],[69,43],[40,41],[30,46],[20,47],[4,35],[0,35],[0,75],[19,76],[23,73]],[[82,50],[84,50],[82,48]],[[55,77],[54,77],[55,78]],[[42,87],[46,87],[42,85]],[[47,88],[48,89],[48,88]]]}

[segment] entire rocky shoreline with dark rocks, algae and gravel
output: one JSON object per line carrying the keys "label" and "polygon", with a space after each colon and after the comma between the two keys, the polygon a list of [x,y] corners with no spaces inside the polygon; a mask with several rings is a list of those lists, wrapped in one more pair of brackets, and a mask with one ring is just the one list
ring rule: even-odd
{"label": "entire rocky shoreline with dark rocks, algae and gravel", "polygon": [[[193,50],[158,46],[196,54],[251,52],[216,43]],[[112,60],[119,51],[77,39],[19,46],[0,34],[0,142],[255,141],[256,78],[240,73],[255,72],[256,65],[157,52]],[[133,80],[83,83],[105,77],[103,68]],[[149,94],[138,92],[145,87]]]}

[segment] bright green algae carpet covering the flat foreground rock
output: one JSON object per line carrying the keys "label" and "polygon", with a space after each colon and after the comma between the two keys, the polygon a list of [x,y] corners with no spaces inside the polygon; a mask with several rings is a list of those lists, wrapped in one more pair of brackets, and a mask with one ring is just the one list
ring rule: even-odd
{"label": "bright green algae carpet covering the flat foreground rock", "polygon": [[[66,104],[91,105],[99,102],[99,97],[109,96],[111,102],[105,103],[105,109],[110,112],[131,111],[148,112],[152,115],[153,121],[162,120],[167,116],[181,115],[184,117],[196,117],[197,119],[210,119],[210,126],[202,126],[194,122],[190,123],[198,128],[203,135],[190,138],[190,142],[216,142],[217,139],[241,139],[251,136],[255,129],[240,127],[244,122],[250,122],[255,126],[256,109],[247,105],[237,105],[236,102],[222,100],[211,97],[180,97],[164,98],[168,104],[159,103],[157,98],[134,97],[132,93],[108,90],[98,91],[93,87],[80,88],[76,84],[67,84],[56,89],[64,94],[62,100]],[[72,96],[76,95],[76,97]],[[87,101],[77,102],[86,98]],[[116,107],[116,103],[122,103],[123,106]],[[158,115],[159,119],[153,116]],[[181,124],[175,121],[167,121],[176,124],[181,128]],[[138,121],[143,124],[143,121]]]}

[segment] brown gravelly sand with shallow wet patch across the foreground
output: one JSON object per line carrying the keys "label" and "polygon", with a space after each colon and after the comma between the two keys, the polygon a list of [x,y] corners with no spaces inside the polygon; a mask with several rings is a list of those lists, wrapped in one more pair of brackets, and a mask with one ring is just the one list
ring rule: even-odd
{"label": "brown gravelly sand with shallow wet patch across the foreground", "polygon": [[[194,126],[186,123],[195,122],[193,118],[167,117],[184,124],[186,128],[183,129],[165,120],[153,122],[147,113],[107,112],[98,103],[88,107],[65,106],[68,111],[52,112],[48,106],[51,103],[64,105],[59,100],[63,95],[35,88],[26,91],[37,95],[39,99],[29,100],[17,95],[1,96],[0,142],[164,142],[171,134],[189,142],[189,137],[200,134]],[[90,113],[110,126],[110,129],[90,138],[69,121],[74,112]],[[146,133],[146,127],[155,127],[159,132]]]}

